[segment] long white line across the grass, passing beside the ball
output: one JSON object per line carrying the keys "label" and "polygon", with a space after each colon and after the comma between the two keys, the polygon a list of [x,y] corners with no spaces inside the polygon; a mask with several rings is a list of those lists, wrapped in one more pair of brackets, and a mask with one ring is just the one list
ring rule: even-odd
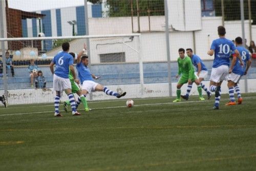
{"label": "long white line across the grass, passing beside the ball", "polygon": [[[243,99],[255,99],[256,97],[244,97]],[[228,99],[221,99],[221,101],[226,101]],[[165,102],[165,103],[147,103],[147,104],[136,104],[136,106],[146,106],[146,105],[162,105],[162,104],[170,104],[170,105],[175,105],[175,104],[182,104],[182,103],[202,103],[202,102],[210,102],[208,100],[204,101],[183,101],[183,102]],[[48,105],[47,105],[48,106]],[[51,105],[53,106],[53,105]],[[105,108],[93,108],[93,110],[100,110],[100,109],[116,109],[116,108],[126,108],[126,106],[113,106],[113,107],[105,107]],[[60,111],[63,112],[63,111]],[[11,115],[28,115],[28,114],[43,114],[43,113],[54,113],[54,111],[45,111],[45,112],[30,112],[30,113],[16,113],[16,114],[4,114],[0,116],[11,116]]]}

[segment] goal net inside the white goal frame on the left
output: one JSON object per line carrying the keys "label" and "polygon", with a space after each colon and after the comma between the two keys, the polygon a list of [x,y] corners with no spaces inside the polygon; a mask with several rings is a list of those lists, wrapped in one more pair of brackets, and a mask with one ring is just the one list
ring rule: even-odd
{"label": "goal net inside the white goal frame on the left", "polygon": [[[75,58],[84,44],[87,46],[90,71],[100,77],[95,82],[114,92],[126,92],[125,98],[140,98],[143,87],[143,73],[140,71],[143,69],[140,68],[139,36],[140,34],[124,34],[4,39],[6,41],[3,42],[8,44],[8,49],[3,50],[6,52],[4,56],[12,65],[6,67],[6,74],[2,72],[3,86],[0,93],[3,94],[4,89],[7,89],[10,104],[53,102],[55,92],[49,64],[62,51],[62,43],[69,42],[69,52],[75,53]],[[42,72],[43,79],[37,77],[38,71]],[[77,73],[76,69],[75,71]],[[116,99],[103,92],[94,92],[87,98]],[[67,96],[63,95],[62,100],[66,99]]]}

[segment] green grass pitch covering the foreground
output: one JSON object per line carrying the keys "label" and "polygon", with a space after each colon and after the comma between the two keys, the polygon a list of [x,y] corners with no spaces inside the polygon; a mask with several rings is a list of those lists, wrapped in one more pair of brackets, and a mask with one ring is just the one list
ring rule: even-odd
{"label": "green grass pitch covering the foreground", "polygon": [[61,118],[53,104],[1,105],[0,170],[255,170],[256,94],[243,98],[97,101]]}

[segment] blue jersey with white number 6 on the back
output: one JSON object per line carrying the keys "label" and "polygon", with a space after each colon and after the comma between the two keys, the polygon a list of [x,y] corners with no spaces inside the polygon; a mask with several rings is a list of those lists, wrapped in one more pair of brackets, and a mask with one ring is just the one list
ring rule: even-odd
{"label": "blue jersey with white number 6 on the back", "polygon": [[52,59],[55,64],[54,74],[61,78],[69,78],[69,66],[73,65],[73,57],[67,52],[60,52]]}

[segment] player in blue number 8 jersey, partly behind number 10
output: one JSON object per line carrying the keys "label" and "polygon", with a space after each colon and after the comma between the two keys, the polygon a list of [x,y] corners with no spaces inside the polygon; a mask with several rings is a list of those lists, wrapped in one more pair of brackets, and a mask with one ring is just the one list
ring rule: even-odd
{"label": "player in blue number 8 jersey, partly behind number 10", "polygon": [[[251,65],[251,58],[249,55],[249,51],[243,47],[243,40],[241,37],[237,37],[235,39],[235,42],[236,42],[237,50],[239,51],[241,58],[243,60],[243,64],[244,64],[244,67],[243,67],[244,74],[243,75],[246,75],[250,68],[250,65]],[[243,98],[241,96],[238,82],[234,83],[234,90],[236,91],[236,93],[238,95],[238,104],[242,104]]]}

